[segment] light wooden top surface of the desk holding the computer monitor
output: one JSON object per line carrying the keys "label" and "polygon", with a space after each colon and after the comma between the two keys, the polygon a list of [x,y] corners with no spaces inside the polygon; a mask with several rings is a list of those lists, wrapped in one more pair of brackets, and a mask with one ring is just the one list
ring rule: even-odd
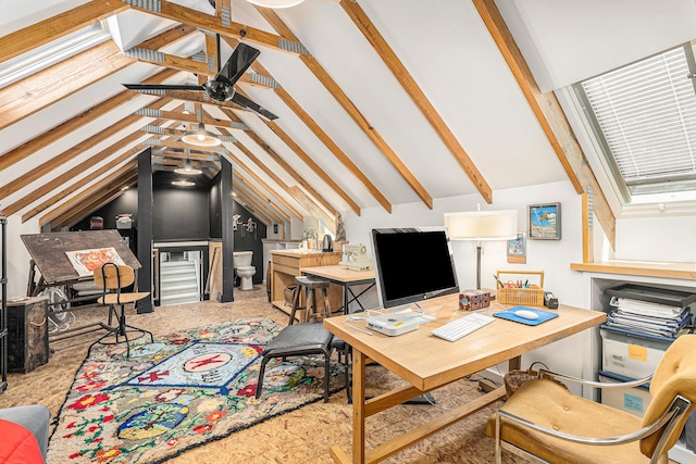
{"label": "light wooden top surface of the desk holding the computer monitor", "polygon": [[[438,318],[453,319],[468,314],[458,310],[457,294],[419,304],[425,313]],[[501,309],[495,304],[484,314],[490,315],[497,311]],[[369,336],[355,330],[348,325],[365,330],[364,322],[344,323],[349,315],[326,318],[324,326],[418,389],[428,391],[599,325],[607,317],[602,312],[566,305],[556,311],[559,317],[537,326],[496,318],[492,324],[455,342],[430,335],[433,328],[446,322],[425,323],[418,330],[397,337],[378,333]]]}

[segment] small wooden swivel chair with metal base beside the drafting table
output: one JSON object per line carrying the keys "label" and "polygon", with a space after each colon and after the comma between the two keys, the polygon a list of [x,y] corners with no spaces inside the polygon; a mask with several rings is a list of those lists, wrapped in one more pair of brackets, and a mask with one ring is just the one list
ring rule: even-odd
{"label": "small wooden swivel chair with metal base beside the drafting table", "polygon": [[[150,342],[154,341],[152,333],[141,328],[133,327],[126,324],[125,305],[129,303],[136,303],[144,298],[150,296],[149,292],[128,292],[123,293],[121,290],[126,288],[135,281],[135,272],[133,267],[126,265],[117,265],[114,263],[105,263],[101,267],[95,269],[95,284],[102,289],[102,294],[97,300],[100,304],[109,305],[109,321],[112,321],[112,316],[117,317],[119,325],[112,327],[100,337],[97,341],[91,343],[89,350],[97,344],[113,344],[113,343],[126,343],[126,356],[130,356],[130,340],[128,333],[146,334],[150,336]],[[121,308],[121,312],[116,312],[116,306]],[[112,338],[115,337],[115,340]]]}

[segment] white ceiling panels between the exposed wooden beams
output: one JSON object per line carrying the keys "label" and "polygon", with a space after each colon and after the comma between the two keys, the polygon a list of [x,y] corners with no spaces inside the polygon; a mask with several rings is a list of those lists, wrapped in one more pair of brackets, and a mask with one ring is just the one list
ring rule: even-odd
{"label": "white ceiling panels between the exposed wooden beams", "polygon": [[[47,20],[80,3],[84,2],[0,0],[3,11],[0,35]],[[178,0],[176,3],[213,12],[208,1]],[[511,72],[470,1],[361,0],[359,4],[490,185],[494,203],[495,191],[499,189],[567,179]],[[499,0],[497,4],[543,91],[561,88],[696,36],[696,4],[693,0]],[[233,21],[278,34],[245,0],[233,0],[232,7]],[[277,10],[277,14],[433,198],[476,193],[464,171],[336,1],[306,0],[298,7]],[[160,34],[174,23],[127,11],[111,18],[108,24],[114,41],[127,49]],[[173,45],[167,52],[186,57],[191,54],[203,43],[202,35],[199,36],[185,43]],[[258,48],[261,50],[258,61],[393,205],[421,201],[299,58],[264,47]],[[229,52],[231,48],[225,47],[223,58]],[[133,64],[12,124],[0,130],[0,153],[122,92],[122,84],[139,83],[160,70],[151,64]],[[181,73],[171,81],[190,78],[190,75],[187,77]],[[362,183],[277,95],[262,88],[240,87],[254,101],[279,116],[276,123],[282,129],[360,208],[378,206],[377,200]],[[152,99],[146,96],[134,99],[108,116],[83,126],[70,137],[0,172],[0,185],[7,185],[13,178],[30,172]],[[207,111],[215,117],[223,117],[213,106],[207,105]],[[350,209],[258,116],[237,110],[235,113],[336,210]],[[116,137],[103,140],[51,175],[0,202],[10,204],[21,199],[48,178],[103,150],[142,125],[137,124]],[[234,130],[234,135],[271,166],[283,181],[290,186],[297,184],[248,135],[240,130]],[[237,148],[231,143],[227,143],[227,148],[247,161]],[[252,165],[251,162],[248,164]],[[258,174],[269,185],[277,187],[269,176],[260,172]],[[278,191],[282,190],[278,188]],[[299,204],[295,206],[306,213]]]}

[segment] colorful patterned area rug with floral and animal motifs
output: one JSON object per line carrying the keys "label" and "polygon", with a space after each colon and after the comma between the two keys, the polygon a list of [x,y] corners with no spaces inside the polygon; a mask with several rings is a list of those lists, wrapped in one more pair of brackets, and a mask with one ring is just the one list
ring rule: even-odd
{"label": "colorful patterned area rug with floral and animal motifs", "polygon": [[[321,356],[274,360],[256,399],[264,344],[281,327],[232,321],[130,344],[96,344],[75,376],[49,463],[159,463],[323,399]],[[343,387],[332,363],[332,391]]]}

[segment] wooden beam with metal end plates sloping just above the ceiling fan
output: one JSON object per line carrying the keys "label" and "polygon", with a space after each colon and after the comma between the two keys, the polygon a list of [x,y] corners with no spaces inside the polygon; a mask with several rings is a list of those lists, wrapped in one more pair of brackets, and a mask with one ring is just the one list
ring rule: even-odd
{"label": "wooden beam with metal end plates sloping just above the ceiling fan", "polygon": [[201,29],[209,30],[213,34],[220,34],[224,37],[244,39],[246,42],[268,47],[293,55],[306,52],[302,45],[296,38],[277,36],[275,34],[266,33],[232,21],[226,24],[227,22],[219,16],[211,16],[210,14],[182,7],[173,2],[160,1],[154,5],[154,2],[148,3],[144,0],[122,1],[124,3],[129,3],[130,8],[134,10],[165,17],[167,20],[176,21],[177,23],[200,27]]}

